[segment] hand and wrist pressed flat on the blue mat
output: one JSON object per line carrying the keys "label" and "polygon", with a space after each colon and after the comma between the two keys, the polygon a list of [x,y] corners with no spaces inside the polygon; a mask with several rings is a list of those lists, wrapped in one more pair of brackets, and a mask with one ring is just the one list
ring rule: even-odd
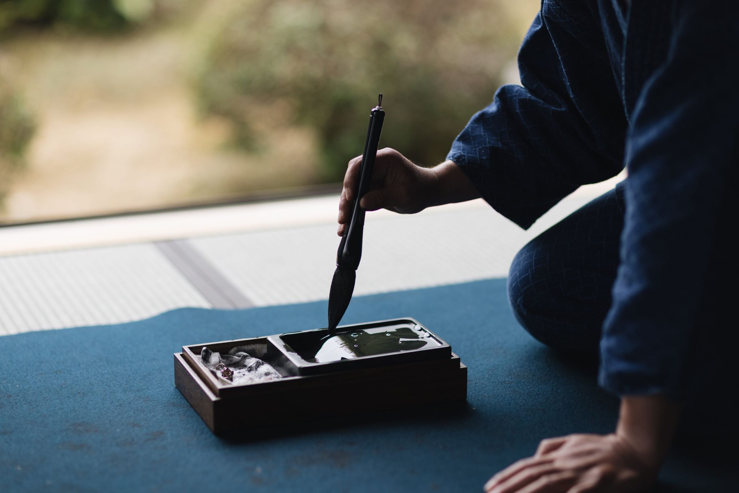
{"label": "hand and wrist pressed flat on the blue mat", "polygon": [[678,407],[659,396],[624,397],[610,435],[569,435],[539,444],[508,466],[487,493],[643,492],[654,483],[677,423]]}

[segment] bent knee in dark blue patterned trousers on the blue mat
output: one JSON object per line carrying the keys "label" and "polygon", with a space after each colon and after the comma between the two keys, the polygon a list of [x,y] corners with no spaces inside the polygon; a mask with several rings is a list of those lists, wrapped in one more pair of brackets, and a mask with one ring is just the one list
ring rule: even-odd
{"label": "bent knee in dark blue patterned trousers on the blue mat", "polygon": [[624,228],[623,182],[525,245],[508,274],[522,326],[558,350],[596,355]]}

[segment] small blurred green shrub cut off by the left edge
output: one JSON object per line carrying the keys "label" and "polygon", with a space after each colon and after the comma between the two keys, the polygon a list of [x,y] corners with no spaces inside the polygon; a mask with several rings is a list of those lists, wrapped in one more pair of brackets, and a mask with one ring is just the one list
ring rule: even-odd
{"label": "small blurred green shrub cut off by the left edge", "polygon": [[0,77],[0,200],[23,163],[34,123],[21,98]]}

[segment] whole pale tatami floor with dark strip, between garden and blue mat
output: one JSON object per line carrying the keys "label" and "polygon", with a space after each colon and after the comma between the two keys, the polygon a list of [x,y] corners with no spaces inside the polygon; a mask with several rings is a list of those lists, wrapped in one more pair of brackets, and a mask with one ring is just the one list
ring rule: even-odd
{"label": "whole pale tatami floor with dark strip, between garden and blue mat", "polygon": [[[505,277],[525,242],[617,180],[580,188],[529,231],[482,200],[406,216],[367,214],[355,294]],[[295,214],[287,214],[288,209]],[[154,242],[142,242],[135,216],[89,220],[87,226],[74,221],[68,229],[65,223],[2,228],[0,243],[9,239],[21,251],[25,234],[27,245],[69,248],[78,235],[104,245],[109,231],[118,231],[123,239],[128,228],[130,241],[138,242],[1,256],[0,335],[128,322],[177,307],[289,305],[328,297],[339,242],[336,197],[156,216],[140,218]],[[222,232],[214,234],[214,223]],[[206,234],[212,236],[202,236]]]}

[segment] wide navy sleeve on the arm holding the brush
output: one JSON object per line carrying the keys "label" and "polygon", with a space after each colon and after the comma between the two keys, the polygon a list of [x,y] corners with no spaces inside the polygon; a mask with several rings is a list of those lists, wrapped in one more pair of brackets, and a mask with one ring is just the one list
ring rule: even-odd
{"label": "wide navy sleeve on the arm holding the brush", "polygon": [[627,120],[594,4],[544,2],[519,51],[522,86],[500,87],[447,155],[522,228],[623,169]]}

